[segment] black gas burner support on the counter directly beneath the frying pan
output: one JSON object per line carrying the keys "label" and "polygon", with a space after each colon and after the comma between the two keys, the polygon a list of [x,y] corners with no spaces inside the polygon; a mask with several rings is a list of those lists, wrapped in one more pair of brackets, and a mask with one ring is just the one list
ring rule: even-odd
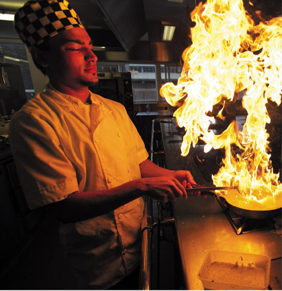
{"label": "black gas burner support on the counter directly beneath the frying pan", "polygon": [[228,206],[223,202],[222,199],[218,198],[218,202],[222,207],[222,210],[233,227],[237,235],[244,233],[252,233],[255,231],[266,231],[270,229],[281,229],[281,219],[280,221],[276,218],[266,218],[266,219],[251,219],[244,216],[239,216],[234,213]]}

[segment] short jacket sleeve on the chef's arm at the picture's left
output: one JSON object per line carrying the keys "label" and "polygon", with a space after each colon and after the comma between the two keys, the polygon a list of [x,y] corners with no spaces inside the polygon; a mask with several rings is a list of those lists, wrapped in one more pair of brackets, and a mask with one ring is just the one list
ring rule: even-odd
{"label": "short jacket sleeve on the chef's arm at the picture's left", "polygon": [[47,120],[19,111],[10,122],[10,144],[27,205],[35,209],[78,191],[75,170]]}

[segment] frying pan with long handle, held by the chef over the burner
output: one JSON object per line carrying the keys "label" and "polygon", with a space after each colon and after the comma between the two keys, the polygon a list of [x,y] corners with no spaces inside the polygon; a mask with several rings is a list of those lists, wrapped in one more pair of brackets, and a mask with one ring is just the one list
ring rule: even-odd
{"label": "frying pan with long handle, held by the chef over the burner", "polygon": [[[222,194],[215,194],[214,190],[228,190],[228,195],[222,195]],[[228,209],[233,211],[234,213],[238,214],[239,216],[244,216],[246,218],[250,219],[267,219],[267,218],[273,218],[275,216],[279,216],[282,213],[282,207],[269,207],[268,209],[265,210],[253,210],[253,209],[248,209],[248,206],[242,207],[239,205],[239,202],[236,198],[236,195],[238,194],[236,187],[200,187],[200,188],[191,188],[191,189],[186,189],[187,193],[191,192],[202,192],[204,194],[208,194],[211,196],[219,197],[222,199]]]}

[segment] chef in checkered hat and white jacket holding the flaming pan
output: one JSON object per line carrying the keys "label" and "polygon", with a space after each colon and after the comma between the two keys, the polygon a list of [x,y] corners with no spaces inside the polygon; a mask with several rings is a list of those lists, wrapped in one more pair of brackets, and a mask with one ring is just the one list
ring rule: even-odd
{"label": "chef in checkered hat and white jacket holding the flaming pan", "polygon": [[139,265],[142,197],[187,198],[183,183],[193,177],[149,161],[124,106],[89,91],[98,82],[95,39],[66,0],[28,1],[14,25],[49,77],[10,124],[27,205],[56,209],[80,288],[136,289],[128,282]]}

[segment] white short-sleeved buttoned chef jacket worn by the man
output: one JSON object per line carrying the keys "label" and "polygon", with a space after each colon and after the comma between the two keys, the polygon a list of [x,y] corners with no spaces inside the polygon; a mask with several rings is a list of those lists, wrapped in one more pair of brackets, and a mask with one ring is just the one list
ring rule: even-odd
{"label": "white short-sleeved buttoned chef jacket worn by the man", "polygon": [[[30,209],[141,178],[148,152],[124,106],[94,93],[91,102],[48,85],[12,117],[11,148]],[[139,198],[93,219],[61,223],[81,288],[110,288],[136,268],[143,209]]]}

